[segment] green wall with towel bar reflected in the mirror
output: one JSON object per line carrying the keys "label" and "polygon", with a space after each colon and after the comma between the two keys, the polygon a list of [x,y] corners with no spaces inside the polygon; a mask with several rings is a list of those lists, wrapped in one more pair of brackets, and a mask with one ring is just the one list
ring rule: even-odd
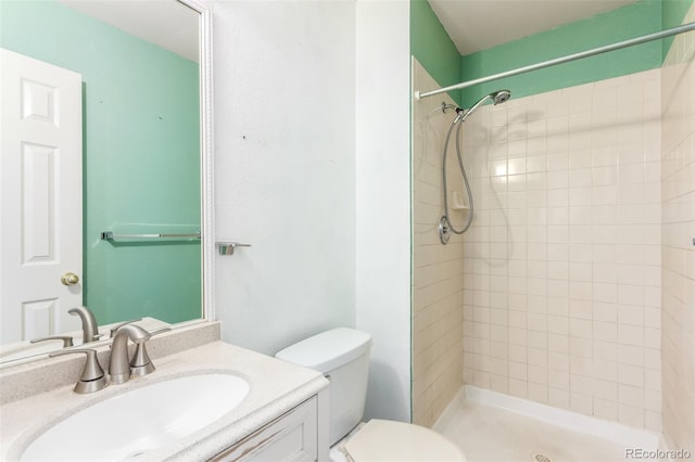
{"label": "green wall with towel bar reflected in the mirror", "polygon": [[100,240],[200,230],[198,64],[52,0],[2,0],[0,46],[83,76],[84,304],[100,324],[200,318],[199,241]]}

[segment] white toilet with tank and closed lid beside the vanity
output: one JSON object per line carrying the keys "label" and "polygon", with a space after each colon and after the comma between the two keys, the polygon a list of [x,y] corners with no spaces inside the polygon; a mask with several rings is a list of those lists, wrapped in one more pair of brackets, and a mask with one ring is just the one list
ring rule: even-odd
{"label": "white toilet with tank and closed lid beside the vanity", "polygon": [[460,450],[442,435],[409,423],[370,420],[342,440],[361,422],[367,396],[371,336],[339,328],[278,351],[276,358],[321,372],[330,381],[330,445],[354,462],[465,462]]}

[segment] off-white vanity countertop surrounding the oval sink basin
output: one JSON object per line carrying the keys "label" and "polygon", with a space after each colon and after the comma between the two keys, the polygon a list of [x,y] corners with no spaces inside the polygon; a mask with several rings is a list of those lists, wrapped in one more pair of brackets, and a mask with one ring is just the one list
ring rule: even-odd
{"label": "off-white vanity countertop surrounding the oval sink basin", "polygon": [[[75,394],[73,385],[70,385],[2,405],[0,460],[18,460],[33,438],[63,418],[129,389],[182,375],[233,373],[244,377],[251,386],[249,395],[238,407],[176,444],[137,459],[207,460],[328,386],[328,381],[319,372],[224,342],[208,343],[153,362],[156,365],[153,373],[131,378],[123,385],[109,385],[89,395]],[[109,416],[104,415],[104,419]]]}

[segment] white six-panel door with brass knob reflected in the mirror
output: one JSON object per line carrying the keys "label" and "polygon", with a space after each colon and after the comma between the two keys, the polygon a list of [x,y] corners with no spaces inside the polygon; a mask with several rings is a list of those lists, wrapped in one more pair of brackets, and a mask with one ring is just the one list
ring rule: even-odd
{"label": "white six-panel door with brass knob reflected in the mirror", "polygon": [[81,76],[0,49],[0,343],[79,329]]}

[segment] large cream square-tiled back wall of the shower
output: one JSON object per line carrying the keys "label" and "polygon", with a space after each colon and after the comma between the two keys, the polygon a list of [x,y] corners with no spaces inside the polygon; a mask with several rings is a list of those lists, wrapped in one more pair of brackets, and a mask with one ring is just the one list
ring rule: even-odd
{"label": "large cream square-tiled back wall of the shower", "polygon": [[465,381],[658,431],[660,70],[509,90],[465,127]]}

